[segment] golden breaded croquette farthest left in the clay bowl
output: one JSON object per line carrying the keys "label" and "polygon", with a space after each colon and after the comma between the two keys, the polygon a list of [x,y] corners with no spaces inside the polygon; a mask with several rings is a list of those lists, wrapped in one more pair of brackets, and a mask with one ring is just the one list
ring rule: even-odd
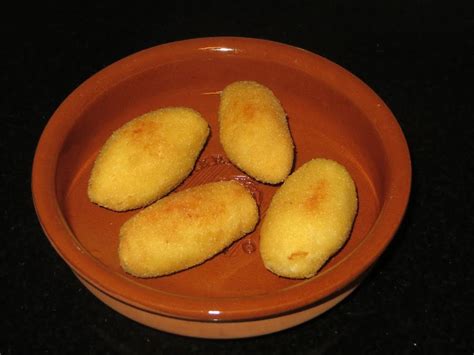
{"label": "golden breaded croquette farthest left in the clay bowl", "polygon": [[162,108],[131,120],[97,156],[89,199],[114,211],[149,205],[189,175],[208,135],[204,118],[186,107]]}

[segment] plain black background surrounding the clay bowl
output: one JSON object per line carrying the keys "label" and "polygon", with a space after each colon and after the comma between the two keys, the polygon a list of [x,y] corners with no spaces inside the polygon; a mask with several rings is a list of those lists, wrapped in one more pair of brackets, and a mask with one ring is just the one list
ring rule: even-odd
{"label": "plain black background surrounding the clay bowl", "polygon": [[[128,5],[134,6],[20,2],[3,9],[0,354],[473,354],[473,7]],[[41,131],[77,85],[136,51],[217,35],[284,42],[353,72],[392,109],[413,161],[406,217],[356,292],[295,328],[227,341],[162,333],[98,301],[43,235],[30,189]]]}

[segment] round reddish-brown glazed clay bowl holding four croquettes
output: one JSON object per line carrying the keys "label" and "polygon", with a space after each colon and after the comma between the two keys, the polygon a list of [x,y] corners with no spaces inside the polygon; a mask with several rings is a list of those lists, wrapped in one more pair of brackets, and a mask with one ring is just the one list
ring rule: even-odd
{"label": "round reddish-brown glazed clay bowl holding four croquettes", "polygon": [[[191,176],[179,186],[238,179],[263,216],[277,186],[257,183],[232,166],[218,140],[219,92],[236,80],[273,90],[288,114],[295,168],[314,157],[344,164],[358,190],[350,239],[313,278],[289,280],[265,269],[259,227],[221,254],[176,274],[138,279],[117,256],[117,213],[87,199],[98,150],[123,123],[164,106],[200,111],[211,137]],[[33,165],[33,197],[51,244],[104,303],[151,327],[188,336],[238,338],[285,329],[344,299],[374,264],[400,224],[411,167],[403,133],[363,82],[318,55],[247,38],[202,38],[133,54],[80,85],[51,117]]]}

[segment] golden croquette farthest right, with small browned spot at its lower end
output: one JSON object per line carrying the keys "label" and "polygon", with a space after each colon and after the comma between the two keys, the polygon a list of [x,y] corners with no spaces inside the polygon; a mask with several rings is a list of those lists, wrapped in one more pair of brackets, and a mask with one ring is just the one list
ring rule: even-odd
{"label": "golden croquette farthest right, with small browned spot at its lower end", "polygon": [[265,267],[288,278],[309,278],[346,242],[357,212],[357,192],[347,170],[313,159],[273,196],[260,231]]}

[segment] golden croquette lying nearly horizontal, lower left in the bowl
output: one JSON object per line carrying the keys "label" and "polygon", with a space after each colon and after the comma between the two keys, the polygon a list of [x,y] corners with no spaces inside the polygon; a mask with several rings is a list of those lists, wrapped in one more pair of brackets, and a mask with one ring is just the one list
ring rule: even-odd
{"label": "golden croquette lying nearly horizontal, lower left in the bowl", "polygon": [[235,181],[172,193],[123,224],[120,264],[137,277],[175,273],[211,258],[257,222],[255,200]]}

